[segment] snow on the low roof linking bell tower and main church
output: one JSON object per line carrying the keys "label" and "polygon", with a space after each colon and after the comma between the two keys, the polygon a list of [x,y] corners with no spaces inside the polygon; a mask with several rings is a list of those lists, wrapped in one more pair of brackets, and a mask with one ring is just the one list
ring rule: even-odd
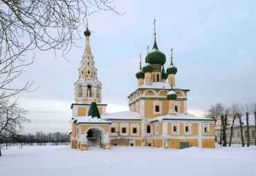
{"label": "snow on the low roof linking bell tower and main church", "polygon": [[129,110],[121,111],[118,113],[107,113],[107,115],[102,115],[102,119],[131,119],[131,120],[141,120],[140,115]]}

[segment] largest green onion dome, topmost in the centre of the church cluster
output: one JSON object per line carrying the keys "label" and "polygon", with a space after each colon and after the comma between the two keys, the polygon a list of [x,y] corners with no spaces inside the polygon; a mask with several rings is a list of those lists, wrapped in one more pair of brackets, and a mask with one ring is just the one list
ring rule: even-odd
{"label": "largest green onion dome, topmost in the centre of the church cluster", "polygon": [[148,56],[149,56],[148,61],[147,61],[147,57],[145,58],[145,60],[150,64],[160,64],[161,66],[165,64],[165,61],[166,61],[165,54],[163,54],[163,52],[158,50],[156,41],[154,43],[152,51],[149,52]]}

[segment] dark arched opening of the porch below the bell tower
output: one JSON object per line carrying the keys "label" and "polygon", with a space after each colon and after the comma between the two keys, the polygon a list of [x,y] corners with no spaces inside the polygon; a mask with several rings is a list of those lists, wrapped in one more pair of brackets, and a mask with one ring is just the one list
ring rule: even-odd
{"label": "dark arched opening of the porch below the bell tower", "polygon": [[102,146],[103,131],[98,128],[91,128],[87,131],[88,146]]}

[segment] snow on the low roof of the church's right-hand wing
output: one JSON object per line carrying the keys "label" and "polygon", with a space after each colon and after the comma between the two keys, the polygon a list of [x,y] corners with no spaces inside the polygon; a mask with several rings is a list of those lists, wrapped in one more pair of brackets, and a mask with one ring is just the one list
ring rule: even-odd
{"label": "snow on the low roof of the church's right-hand wing", "polygon": [[162,116],[159,116],[159,117],[156,117],[154,119],[152,119],[151,121],[162,121],[163,119],[190,119],[190,120],[210,120],[210,121],[213,121],[212,119],[208,119],[208,118],[205,118],[205,117],[196,117],[194,115],[191,115],[188,113],[188,115],[185,115],[185,114],[178,114],[178,115],[162,115]]}

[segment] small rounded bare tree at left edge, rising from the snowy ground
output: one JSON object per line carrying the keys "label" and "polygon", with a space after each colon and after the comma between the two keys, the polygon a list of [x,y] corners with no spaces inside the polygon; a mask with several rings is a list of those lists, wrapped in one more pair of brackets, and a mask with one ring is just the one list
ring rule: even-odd
{"label": "small rounded bare tree at left edge, rising from the snowy ground", "polygon": [[11,103],[9,99],[3,98],[0,99],[0,106],[0,144],[2,144],[19,135],[24,128],[22,124],[30,121],[24,117],[28,112],[20,108],[17,101]]}

